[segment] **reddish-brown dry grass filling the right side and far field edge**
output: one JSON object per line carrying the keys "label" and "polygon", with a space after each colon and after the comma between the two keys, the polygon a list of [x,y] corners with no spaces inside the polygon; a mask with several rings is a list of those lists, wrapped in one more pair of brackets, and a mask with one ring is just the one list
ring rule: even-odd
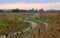
{"label": "reddish-brown dry grass filling the right side and far field edge", "polygon": [[[60,13],[0,13],[0,16],[7,15],[9,19],[14,19],[14,17],[23,15],[23,14],[33,14],[35,16],[39,16],[41,18],[49,18],[49,21],[47,22],[51,27],[45,28],[44,24],[39,23],[38,26],[43,27],[40,33],[39,27],[37,29],[33,29],[28,35],[25,36],[25,38],[60,38]],[[40,35],[38,35],[40,34]]]}

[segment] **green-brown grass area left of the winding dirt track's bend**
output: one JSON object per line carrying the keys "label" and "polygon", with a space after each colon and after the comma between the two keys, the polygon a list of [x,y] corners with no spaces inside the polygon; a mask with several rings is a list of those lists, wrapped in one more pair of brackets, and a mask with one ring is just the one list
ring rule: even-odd
{"label": "green-brown grass area left of the winding dirt track's bend", "polygon": [[[26,16],[26,15],[25,15]],[[24,29],[30,26],[28,22],[19,20],[24,16],[14,14],[2,14],[0,15],[0,34],[5,34],[7,32],[16,32],[20,29]]]}

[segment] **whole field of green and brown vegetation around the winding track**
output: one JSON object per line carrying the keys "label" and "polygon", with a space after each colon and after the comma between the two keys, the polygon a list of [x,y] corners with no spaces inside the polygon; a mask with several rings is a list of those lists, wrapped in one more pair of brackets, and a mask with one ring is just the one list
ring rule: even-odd
{"label": "whole field of green and brown vegetation around the winding track", "polygon": [[[22,19],[22,20],[20,20]],[[37,24],[33,29],[28,20]],[[0,35],[25,30],[6,38],[60,38],[60,13],[0,13]]]}

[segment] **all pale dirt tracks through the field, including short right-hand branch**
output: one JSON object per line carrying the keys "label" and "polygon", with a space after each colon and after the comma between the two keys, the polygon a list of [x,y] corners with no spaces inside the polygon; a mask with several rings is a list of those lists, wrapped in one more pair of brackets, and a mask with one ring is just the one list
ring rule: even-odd
{"label": "all pale dirt tracks through the field, including short right-hand branch", "polygon": [[[20,18],[20,20],[22,20],[22,19]],[[37,25],[38,25],[36,22],[32,22],[32,21],[29,21],[29,20],[23,20],[23,21],[24,21],[24,22],[29,22],[29,23],[31,24],[31,26],[28,27],[28,28],[26,28],[25,30],[23,30],[23,32],[28,31],[31,27],[32,27],[32,29],[34,29],[34,28],[36,28]],[[41,22],[41,21],[39,21],[39,22]],[[43,23],[45,26],[48,26],[48,23],[46,23],[46,22],[41,22],[41,23]],[[12,33],[12,35],[16,35],[17,33],[20,34],[21,31]],[[6,37],[5,35],[0,36],[0,38],[5,38],[5,37]]]}

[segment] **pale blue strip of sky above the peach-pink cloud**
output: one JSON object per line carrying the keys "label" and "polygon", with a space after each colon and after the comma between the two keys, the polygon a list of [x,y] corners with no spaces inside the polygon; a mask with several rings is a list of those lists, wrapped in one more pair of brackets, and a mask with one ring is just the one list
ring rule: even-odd
{"label": "pale blue strip of sky above the peach-pink cloud", "polygon": [[60,0],[0,0],[0,4],[2,4],[2,3],[17,3],[17,2],[48,3],[48,2],[60,2]]}

